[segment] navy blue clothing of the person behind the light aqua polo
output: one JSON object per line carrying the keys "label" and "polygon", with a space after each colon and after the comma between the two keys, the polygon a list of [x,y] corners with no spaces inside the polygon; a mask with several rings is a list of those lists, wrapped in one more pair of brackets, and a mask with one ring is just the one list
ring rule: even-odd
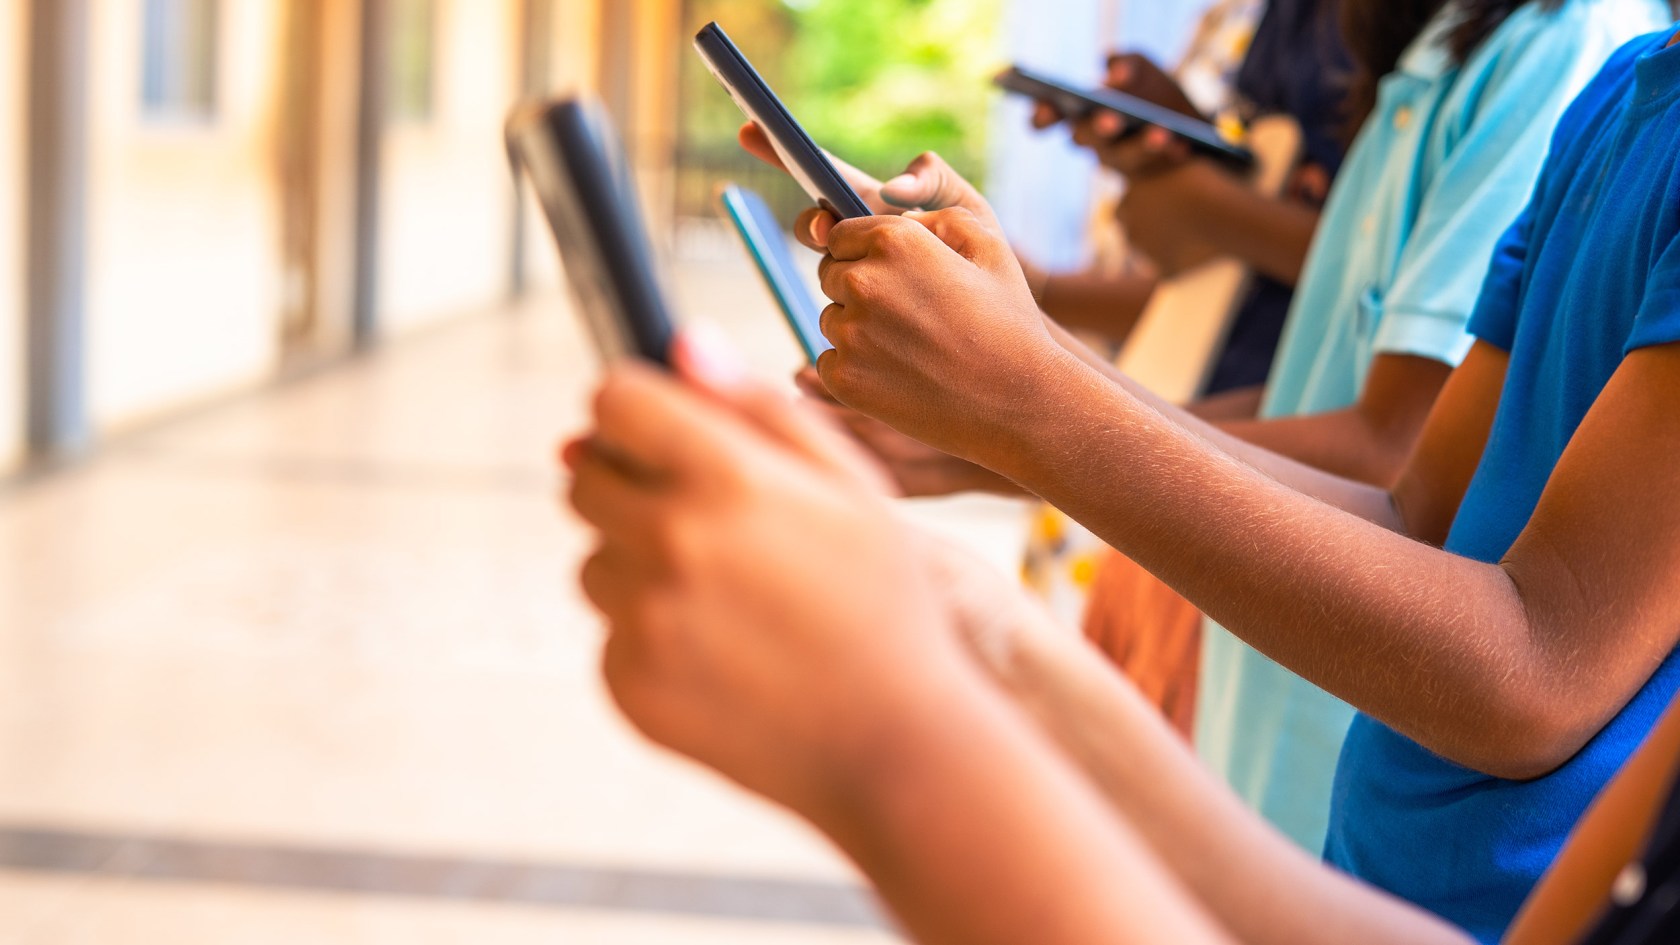
{"label": "navy blue clothing of the person behind the light aqua polo", "polygon": [[[1294,118],[1304,136],[1305,161],[1332,177],[1347,153],[1342,103],[1352,74],[1334,7],[1334,0],[1272,0],[1236,74],[1236,91],[1248,106],[1258,114]],[[1255,277],[1206,393],[1265,383],[1294,294],[1277,279]]]}

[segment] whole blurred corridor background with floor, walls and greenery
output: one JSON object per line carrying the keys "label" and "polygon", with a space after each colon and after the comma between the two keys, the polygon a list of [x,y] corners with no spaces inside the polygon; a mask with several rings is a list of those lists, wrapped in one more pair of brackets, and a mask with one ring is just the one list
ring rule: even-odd
{"label": "whole blurred corridor background with floor, walls and greenery", "polygon": [[[553,444],[595,365],[501,121],[598,94],[685,316],[798,350],[712,193],[719,20],[813,136],[937,150],[1050,266],[1092,168],[1010,61],[1163,0],[0,0],[0,942],[890,942],[595,679]],[[916,509],[1013,568],[1020,509]]]}

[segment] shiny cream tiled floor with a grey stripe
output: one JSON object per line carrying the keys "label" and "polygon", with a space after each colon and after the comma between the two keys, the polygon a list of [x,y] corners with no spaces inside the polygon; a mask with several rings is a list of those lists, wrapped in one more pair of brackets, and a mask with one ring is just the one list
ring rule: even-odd
{"label": "shiny cream tiled floor with a grey stripe", "polygon": [[[751,274],[680,294],[766,373]],[[595,678],[558,299],[0,493],[0,942],[890,942],[803,826]],[[1018,509],[924,509],[1006,565]]]}

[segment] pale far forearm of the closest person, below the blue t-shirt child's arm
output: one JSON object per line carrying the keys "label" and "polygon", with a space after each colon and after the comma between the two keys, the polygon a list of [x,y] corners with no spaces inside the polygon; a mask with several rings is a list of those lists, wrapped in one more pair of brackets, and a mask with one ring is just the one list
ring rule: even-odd
{"label": "pale far forearm of the closest person, below the blue t-shirt child's arm", "polygon": [[1079,641],[1028,632],[1010,691],[1191,895],[1248,945],[1463,945],[1438,918],[1326,868],[1218,784]]}

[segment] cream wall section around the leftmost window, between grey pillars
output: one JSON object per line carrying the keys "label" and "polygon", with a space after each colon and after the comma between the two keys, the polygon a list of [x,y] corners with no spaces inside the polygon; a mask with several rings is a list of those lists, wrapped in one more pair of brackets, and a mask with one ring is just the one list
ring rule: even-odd
{"label": "cream wall section around the leftmost window, between grey pillars", "polygon": [[87,377],[99,432],[255,383],[277,363],[269,135],[282,2],[223,2],[208,124],[141,116],[139,3],[92,3]]}

